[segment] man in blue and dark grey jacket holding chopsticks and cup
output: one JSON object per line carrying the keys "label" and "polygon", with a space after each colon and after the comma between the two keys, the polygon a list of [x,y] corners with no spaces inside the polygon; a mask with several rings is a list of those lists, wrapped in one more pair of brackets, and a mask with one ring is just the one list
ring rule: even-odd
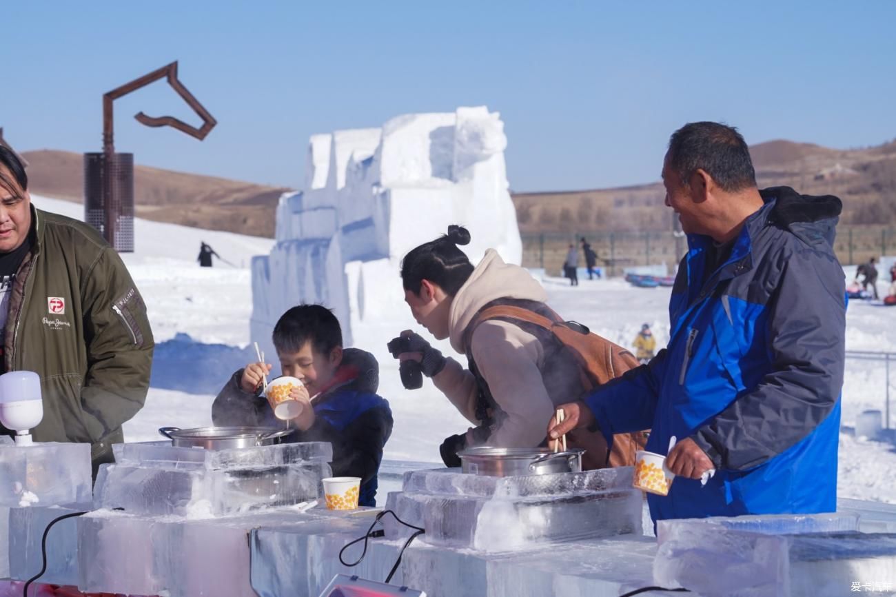
{"label": "man in blue and dark grey jacket holding chopsticks and cup", "polygon": [[[711,122],[672,135],[666,204],[688,234],[670,338],[649,364],[562,406],[571,428],[651,428],[676,480],[654,520],[836,510],[846,306],[837,197],[760,191],[743,137]],[[715,471],[705,486],[704,473]]]}

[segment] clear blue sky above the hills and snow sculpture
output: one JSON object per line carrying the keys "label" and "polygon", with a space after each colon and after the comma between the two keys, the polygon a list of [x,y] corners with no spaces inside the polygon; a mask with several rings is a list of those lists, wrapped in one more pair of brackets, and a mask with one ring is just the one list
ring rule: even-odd
{"label": "clear blue sky above the hills and snow sculpture", "polygon": [[219,120],[163,82],[116,101],[138,163],[300,187],[310,134],[487,105],[517,191],[659,179],[693,120],[749,143],[896,138],[896,2],[3,2],[0,126],[17,149],[99,151],[101,96],[180,61]]}

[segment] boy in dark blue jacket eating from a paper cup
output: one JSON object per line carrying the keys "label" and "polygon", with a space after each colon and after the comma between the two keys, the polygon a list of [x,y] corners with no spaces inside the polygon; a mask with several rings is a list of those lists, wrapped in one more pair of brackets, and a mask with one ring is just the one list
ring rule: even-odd
{"label": "boy in dark blue jacket eating from a paper cup", "polygon": [[[283,375],[304,384],[291,392],[303,409],[290,421],[296,432],[287,441],[331,443],[333,475],[360,477],[358,505],[375,506],[376,474],[392,434],[389,402],[376,394],[376,359],[364,350],[343,349],[339,320],[320,305],[299,305],[280,316],[273,343]],[[214,424],[281,427],[260,395],[271,368],[249,363],[234,373],[211,406]]]}

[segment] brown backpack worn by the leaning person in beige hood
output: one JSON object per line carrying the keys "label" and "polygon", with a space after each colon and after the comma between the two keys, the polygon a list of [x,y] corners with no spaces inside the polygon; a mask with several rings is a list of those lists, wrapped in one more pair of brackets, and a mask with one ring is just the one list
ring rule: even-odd
{"label": "brown backpack worn by the leaning person in beige hood", "polygon": [[[638,359],[629,350],[591,333],[582,324],[552,321],[527,308],[502,305],[484,309],[471,328],[488,319],[516,319],[538,325],[552,333],[578,363],[582,387],[586,392],[640,366]],[[580,398],[581,396],[570,396],[569,402]],[[547,421],[545,423],[547,425]],[[647,435],[646,431],[616,434],[613,436],[613,448],[607,454],[607,442],[600,431],[576,429],[568,434],[567,445],[586,450],[582,460],[582,466],[586,470],[607,466],[633,466],[635,452],[644,449]]]}

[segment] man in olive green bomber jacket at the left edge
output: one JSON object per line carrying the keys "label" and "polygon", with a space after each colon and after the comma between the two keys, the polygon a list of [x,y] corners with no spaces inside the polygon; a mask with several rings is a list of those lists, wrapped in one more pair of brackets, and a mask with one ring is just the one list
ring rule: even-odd
{"label": "man in olive green bomber jacket at the left edge", "polygon": [[35,209],[27,189],[21,162],[0,147],[3,370],[39,374],[44,419],[34,439],[90,443],[96,474],[146,400],[153,350],[146,307],[96,230]]}

